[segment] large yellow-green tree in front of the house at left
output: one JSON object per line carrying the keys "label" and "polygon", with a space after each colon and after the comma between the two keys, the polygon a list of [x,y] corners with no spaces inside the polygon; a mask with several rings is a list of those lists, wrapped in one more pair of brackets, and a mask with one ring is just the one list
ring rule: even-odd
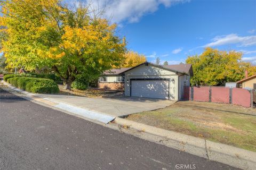
{"label": "large yellow-green tree in front of the house at left", "polygon": [[71,88],[76,78],[88,80],[124,61],[125,39],[89,6],[69,8],[59,0],[1,1],[7,67],[45,68],[57,73]]}

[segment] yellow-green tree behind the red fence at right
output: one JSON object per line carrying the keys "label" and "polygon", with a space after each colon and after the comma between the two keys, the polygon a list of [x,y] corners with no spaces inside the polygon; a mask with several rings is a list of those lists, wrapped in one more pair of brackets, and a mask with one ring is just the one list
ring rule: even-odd
{"label": "yellow-green tree behind the red fence at right", "polygon": [[205,48],[201,55],[189,56],[186,63],[192,64],[194,76],[192,85],[220,86],[226,82],[236,82],[244,78],[245,70],[249,75],[256,74],[256,67],[241,60],[242,53]]}

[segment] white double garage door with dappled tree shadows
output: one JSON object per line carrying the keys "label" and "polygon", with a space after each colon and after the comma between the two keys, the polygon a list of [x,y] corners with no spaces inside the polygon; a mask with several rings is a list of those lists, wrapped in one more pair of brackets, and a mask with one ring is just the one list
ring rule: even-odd
{"label": "white double garage door with dappled tree shadows", "polygon": [[169,98],[167,80],[132,80],[131,96],[148,98]]}

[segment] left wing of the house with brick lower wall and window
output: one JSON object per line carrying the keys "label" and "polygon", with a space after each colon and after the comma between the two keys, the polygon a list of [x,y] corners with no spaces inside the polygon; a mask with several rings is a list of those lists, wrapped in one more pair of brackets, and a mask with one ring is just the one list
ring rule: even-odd
{"label": "left wing of the house with brick lower wall and window", "polygon": [[99,78],[98,88],[111,89],[111,90],[123,90],[124,89],[124,71],[131,68],[112,69],[105,71]]}

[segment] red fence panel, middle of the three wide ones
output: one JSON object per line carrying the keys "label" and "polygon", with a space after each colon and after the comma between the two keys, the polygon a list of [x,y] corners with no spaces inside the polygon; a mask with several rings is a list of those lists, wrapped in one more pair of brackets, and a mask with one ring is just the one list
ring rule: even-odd
{"label": "red fence panel, middle of the three wide ones", "polygon": [[229,104],[229,88],[212,86],[211,101]]}

